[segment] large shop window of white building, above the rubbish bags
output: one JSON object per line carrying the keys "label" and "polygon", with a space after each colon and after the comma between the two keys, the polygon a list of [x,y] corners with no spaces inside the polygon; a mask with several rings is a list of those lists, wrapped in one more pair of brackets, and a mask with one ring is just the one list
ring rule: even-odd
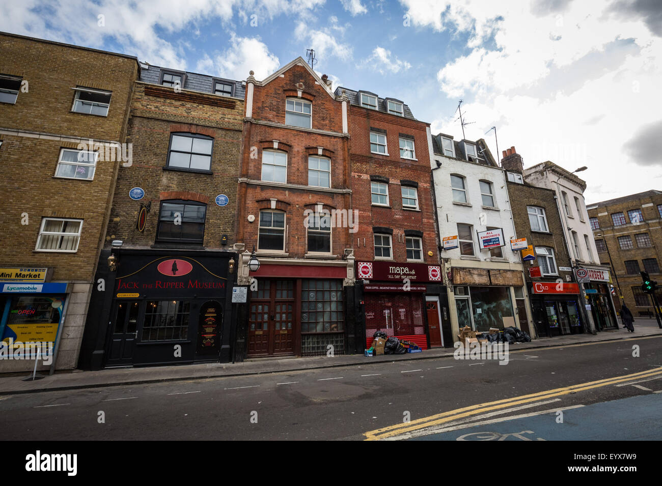
{"label": "large shop window of white building, above the rubbish bags", "polygon": [[[509,287],[469,287],[475,331],[514,325]],[[510,319],[504,319],[510,318]]]}

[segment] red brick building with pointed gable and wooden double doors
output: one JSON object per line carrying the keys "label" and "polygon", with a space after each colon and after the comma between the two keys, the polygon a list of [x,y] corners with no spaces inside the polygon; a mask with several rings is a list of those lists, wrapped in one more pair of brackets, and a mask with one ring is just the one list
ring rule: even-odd
{"label": "red brick building with pointed gable and wooden double doors", "polygon": [[[297,58],[246,80],[238,188],[238,284],[251,284],[238,359],[346,350],[353,284],[348,101]],[[243,243],[243,247],[242,247]],[[248,254],[260,268],[250,275]],[[255,278],[256,281],[253,281]]]}

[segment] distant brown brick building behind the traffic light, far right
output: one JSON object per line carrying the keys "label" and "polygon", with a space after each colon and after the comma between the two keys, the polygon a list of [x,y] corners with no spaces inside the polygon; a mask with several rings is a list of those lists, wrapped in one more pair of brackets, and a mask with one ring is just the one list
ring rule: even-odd
{"label": "distant brown brick building behind the traffic light, far right", "polygon": [[[618,297],[634,317],[653,316],[641,270],[662,284],[662,191],[648,190],[587,206],[600,262],[612,267]],[[657,291],[662,301],[662,290]],[[614,303],[616,303],[614,298]],[[620,305],[618,305],[620,309]]]}

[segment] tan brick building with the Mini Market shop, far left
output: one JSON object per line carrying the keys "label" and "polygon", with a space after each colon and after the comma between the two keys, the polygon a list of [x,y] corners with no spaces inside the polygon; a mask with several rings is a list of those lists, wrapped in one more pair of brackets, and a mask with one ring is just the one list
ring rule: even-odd
{"label": "tan brick building with the Mini Market shop, far left", "polygon": [[[138,61],[14,34],[0,34],[0,51],[0,180],[8,195],[0,203],[0,337],[54,343],[55,368],[71,369],[122,163],[117,143],[126,136]],[[13,268],[33,271],[17,276]],[[33,365],[3,361],[0,372]]]}

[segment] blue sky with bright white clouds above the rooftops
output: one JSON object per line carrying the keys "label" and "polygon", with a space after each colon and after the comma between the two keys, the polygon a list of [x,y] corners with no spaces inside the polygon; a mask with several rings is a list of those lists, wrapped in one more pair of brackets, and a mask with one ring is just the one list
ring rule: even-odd
{"label": "blue sky with bright white clouds above the rooftops", "polygon": [[[263,79],[307,49],[339,85],[432,132],[516,147],[587,204],[662,190],[662,0],[21,0],[0,30],[208,75]],[[499,157],[501,158],[501,157]]]}

